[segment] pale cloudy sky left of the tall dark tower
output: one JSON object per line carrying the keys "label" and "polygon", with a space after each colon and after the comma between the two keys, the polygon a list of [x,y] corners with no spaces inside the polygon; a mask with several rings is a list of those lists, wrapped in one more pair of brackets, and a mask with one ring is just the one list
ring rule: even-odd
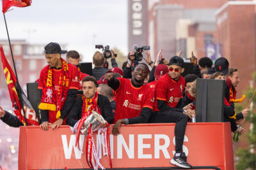
{"label": "pale cloudy sky left of the tall dark tower", "polygon": [[[66,44],[91,62],[95,44],[127,53],[127,0],[34,0],[26,8],[11,7],[5,13],[10,39],[31,44]],[[0,39],[7,39],[0,15]],[[44,49],[43,49],[44,50]]]}

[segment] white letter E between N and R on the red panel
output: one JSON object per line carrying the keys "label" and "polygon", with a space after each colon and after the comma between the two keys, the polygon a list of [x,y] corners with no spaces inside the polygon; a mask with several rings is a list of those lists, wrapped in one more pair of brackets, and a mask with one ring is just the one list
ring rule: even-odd
{"label": "white letter E between N and R on the red panel", "polygon": [[150,148],[150,144],[143,144],[143,139],[151,139],[152,134],[138,134],[138,159],[151,159],[152,154],[143,154],[143,148]]}

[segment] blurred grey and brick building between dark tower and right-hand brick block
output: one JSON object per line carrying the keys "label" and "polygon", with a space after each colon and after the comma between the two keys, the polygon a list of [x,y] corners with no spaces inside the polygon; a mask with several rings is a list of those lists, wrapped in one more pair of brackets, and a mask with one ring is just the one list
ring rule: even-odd
{"label": "blurred grey and brick building between dark tower and right-hand brick block", "polygon": [[[191,51],[204,57],[206,45],[214,45],[214,59],[220,57],[214,12],[227,0],[179,1],[160,0],[149,6],[149,45],[156,55],[163,48],[163,56],[170,59],[182,50],[182,57],[190,57]],[[216,49],[216,46],[217,49]]]}

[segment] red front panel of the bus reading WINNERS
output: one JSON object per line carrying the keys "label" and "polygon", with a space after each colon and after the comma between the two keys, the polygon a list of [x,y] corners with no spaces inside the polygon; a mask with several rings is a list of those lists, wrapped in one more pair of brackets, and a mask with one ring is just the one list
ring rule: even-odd
{"label": "red front panel of the bus reading WINNERS", "polygon": [[[174,128],[175,124],[122,125],[118,136],[109,135],[113,168],[174,167],[170,164],[175,153]],[[102,148],[102,143],[96,142],[99,138],[94,132],[95,146]],[[19,169],[89,169],[86,136],[81,135],[79,143],[83,153],[67,125],[54,130],[49,126],[49,131],[20,127]],[[182,149],[192,166],[234,169],[230,123],[188,123]],[[99,158],[103,167],[110,168],[103,150]]]}

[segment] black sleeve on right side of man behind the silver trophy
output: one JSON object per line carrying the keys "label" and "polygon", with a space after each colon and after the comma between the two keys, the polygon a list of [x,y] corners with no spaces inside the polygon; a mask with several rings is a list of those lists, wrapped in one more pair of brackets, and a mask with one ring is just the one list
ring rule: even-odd
{"label": "black sleeve on right side of man behind the silver trophy", "polygon": [[102,107],[104,108],[101,114],[109,124],[113,124],[114,122],[113,113],[112,113],[112,108],[108,100],[108,97],[102,96],[101,99],[102,99]]}

